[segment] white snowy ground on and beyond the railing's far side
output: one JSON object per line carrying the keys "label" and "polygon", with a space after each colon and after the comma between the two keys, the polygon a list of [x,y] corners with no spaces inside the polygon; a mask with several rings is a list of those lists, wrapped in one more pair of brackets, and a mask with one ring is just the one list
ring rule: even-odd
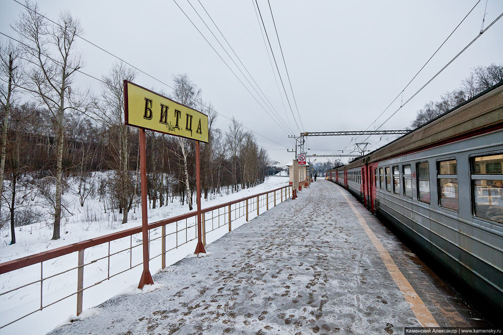
{"label": "white snowy ground on and beyond the railing's far side", "polygon": [[[70,185],[72,183],[70,182]],[[203,200],[202,207],[210,207],[219,203],[228,202],[234,199],[243,198],[249,195],[254,195],[267,190],[275,189],[288,184],[288,177],[268,177],[266,181],[256,187],[240,190],[239,192],[228,195],[217,195],[211,200]],[[117,231],[122,231],[129,228],[141,226],[141,211],[138,209],[129,212],[129,220],[127,224],[121,225],[122,214],[107,210],[104,212],[103,202],[100,202],[98,197],[89,197],[84,206],[80,206],[76,186],[70,186],[65,192],[64,203],[66,211],[64,218],[61,221],[61,238],[57,241],[52,241],[52,226],[50,213],[43,211],[40,206],[41,216],[44,220],[16,228],[16,241],[14,245],[10,243],[10,228],[4,227],[1,231],[1,246],[0,246],[0,262],[7,262],[13,259],[29,256],[34,253],[39,253],[54,248],[66,246],[72,243],[89,240],[99,236],[107,235]],[[30,197],[28,197],[30,198]],[[42,203],[42,199],[37,199],[37,195],[32,196],[33,202]],[[279,202],[279,199],[278,199]],[[262,204],[261,204],[262,205]],[[194,199],[195,207],[195,199]],[[6,208],[2,208],[6,211]],[[148,210],[148,221],[153,222],[160,219],[173,217],[184,214],[189,211],[188,206],[182,206],[179,201],[175,200],[167,206],[157,207]],[[261,212],[263,210],[261,209]],[[239,213],[236,213],[239,214]],[[242,214],[242,213],[241,213]],[[234,213],[232,218],[234,219]],[[239,215],[238,215],[239,216]],[[250,212],[249,219],[256,216],[255,212]],[[208,217],[206,218],[208,221]],[[213,228],[218,227],[214,220]],[[241,217],[232,222],[232,228],[235,229],[245,222],[244,217]],[[167,237],[166,249],[170,250],[177,245],[181,245],[186,240],[190,241],[195,238],[195,227],[185,230],[185,227],[193,226],[195,217],[189,218],[187,221],[178,222],[178,224],[170,224],[166,227],[166,234],[171,234]],[[209,222],[206,230],[211,230]],[[160,236],[160,228],[151,230],[150,240]],[[207,243],[211,243],[220,238],[227,232],[227,226],[222,225],[219,229],[206,235]],[[196,241],[189,242],[180,246],[166,255],[166,265],[173,264],[183,259],[188,254],[192,254],[195,249]],[[133,246],[132,252],[129,249],[124,252],[118,252]],[[137,246],[137,247],[134,247]],[[160,239],[150,243],[150,256],[160,254]],[[108,258],[108,254],[115,254]],[[84,287],[90,287],[83,292],[83,309],[87,309],[98,305],[106,299],[122,292],[123,290],[131,290],[137,286],[142,266],[142,250],[141,250],[141,234],[133,235],[131,238],[123,238],[113,241],[109,244],[103,244],[85,251],[85,272],[84,272]],[[104,258],[103,258],[104,257]],[[100,259],[103,258],[103,259]],[[97,261],[96,261],[97,260]],[[110,260],[110,262],[109,262]],[[94,262],[96,261],[96,262]],[[91,263],[87,265],[88,263]],[[135,265],[139,265],[134,267]],[[42,287],[40,283],[29,285],[23,289],[4,294],[0,296],[0,324],[6,324],[28,312],[40,308],[40,294],[43,293],[43,306],[64,298],[67,295],[76,291],[77,270],[73,269],[77,266],[77,253],[66,255],[51,261],[43,263],[41,269],[40,264],[36,264],[24,269],[16,270],[11,273],[0,275],[0,284],[2,289],[0,292],[9,291],[15,287],[25,285],[40,279],[41,270],[43,272],[44,281]],[[132,270],[120,274],[121,271],[127,270],[133,266]],[[150,272],[154,274],[161,267],[160,257],[150,261]],[[72,270],[70,270],[72,269]],[[70,270],[64,274],[48,278],[51,275]],[[117,275],[115,275],[117,274]],[[110,280],[105,280],[108,276],[115,275]],[[48,278],[48,279],[45,279]],[[99,285],[93,286],[97,283]],[[12,325],[0,329],[0,334],[43,334],[54,328],[57,324],[68,319],[74,318],[76,308],[76,296],[72,295],[54,305],[44,308],[42,311],[36,312],[22,320],[15,322]]]}

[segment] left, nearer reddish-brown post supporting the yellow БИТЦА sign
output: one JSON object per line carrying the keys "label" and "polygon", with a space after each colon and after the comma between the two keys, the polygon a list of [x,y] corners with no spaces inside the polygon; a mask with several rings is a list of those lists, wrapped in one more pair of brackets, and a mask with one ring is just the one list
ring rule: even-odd
{"label": "left, nearer reddish-brown post supporting the yellow \u0411\u0418\u0422\u0426\u0410 sign", "polygon": [[152,275],[148,269],[148,230],[147,230],[147,157],[145,130],[140,129],[140,176],[141,176],[141,233],[143,239],[143,273],[138,288],[146,284],[153,284]]}

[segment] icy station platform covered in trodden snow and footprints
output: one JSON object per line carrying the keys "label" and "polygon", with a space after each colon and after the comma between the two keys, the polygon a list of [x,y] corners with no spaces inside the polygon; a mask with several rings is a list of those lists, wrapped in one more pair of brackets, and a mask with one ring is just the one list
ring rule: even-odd
{"label": "icy station platform covered in trodden snow and footprints", "polygon": [[51,334],[391,334],[485,325],[325,180],[206,250],[155,274],[150,289],[115,296]]}

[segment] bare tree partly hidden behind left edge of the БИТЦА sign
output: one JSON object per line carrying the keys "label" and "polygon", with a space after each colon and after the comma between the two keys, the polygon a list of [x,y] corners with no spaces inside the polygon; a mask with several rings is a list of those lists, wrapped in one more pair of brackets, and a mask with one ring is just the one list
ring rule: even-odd
{"label": "bare tree partly hidden behind left edge of the \u0411\u0418\u0422\u0426\u0410 sign", "polygon": [[110,73],[103,77],[105,84],[100,99],[95,99],[95,115],[115,134],[118,141],[111,141],[118,171],[117,195],[122,212],[122,223],[128,220],[129,198],[132,195],[129,173],[129,127],[124,125],[124,80],[133,81],[136,72],[123,63],[112,66]]}

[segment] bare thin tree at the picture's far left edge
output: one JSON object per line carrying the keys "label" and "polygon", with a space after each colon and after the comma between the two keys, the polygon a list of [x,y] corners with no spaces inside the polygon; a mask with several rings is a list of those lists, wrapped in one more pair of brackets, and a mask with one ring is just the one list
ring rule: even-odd
{"label": "bare thin tree at the picture's far left edge", "polygon": [[21,50],[13,43],[8,43],[6,45],[0,44],[0,107],[3,114],[2,125],[0,125],[2,134],[2,147],[0,149],[0,193],[2,193],[2,188],[4,186],[9,118],[22,75],[20,57]]}

